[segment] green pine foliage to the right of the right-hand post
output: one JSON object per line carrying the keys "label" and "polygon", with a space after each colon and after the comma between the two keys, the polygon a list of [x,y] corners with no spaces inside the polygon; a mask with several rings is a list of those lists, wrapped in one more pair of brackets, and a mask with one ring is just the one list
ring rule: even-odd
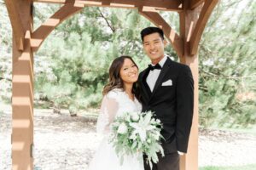
{"label": "green pine foliage to the right of the right-hand post", "polygon": [[209,20],[199,54],[204,127],[247,127],[256,122],[255,7],[253,1],[223,1]]}

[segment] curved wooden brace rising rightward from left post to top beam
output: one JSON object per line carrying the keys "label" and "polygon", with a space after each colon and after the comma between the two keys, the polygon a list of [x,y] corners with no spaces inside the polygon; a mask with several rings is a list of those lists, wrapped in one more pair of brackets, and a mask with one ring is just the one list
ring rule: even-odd
{"label": "curved wooden brace rising rightward from left post to top beam", "polygon": [[78,13],[83,8],[83,5],[78,6],[74,1],[73,3],[63,5],[55,14],[46,20],[42,26],[38,27],[38,29],[32,33],[32,51],[38,51],[38,48],[44,42],[45,38],[49,36],[50,32],[53,31],[56,26],[59,26],[63,20]]}

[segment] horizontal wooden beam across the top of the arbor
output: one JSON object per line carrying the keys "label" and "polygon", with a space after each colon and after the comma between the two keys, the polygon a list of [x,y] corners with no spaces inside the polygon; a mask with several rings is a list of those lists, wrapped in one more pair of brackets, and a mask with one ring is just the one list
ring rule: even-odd
{"label": "horizontal wooden beam across the top of the arbor", "polygon": [[[33,0],[34,3],[69,3],[70,0]],[[137,8],[154,7],[157,10],[181,11],[183,0],[76,0],[86,6],[113,7],[113,8]]]}

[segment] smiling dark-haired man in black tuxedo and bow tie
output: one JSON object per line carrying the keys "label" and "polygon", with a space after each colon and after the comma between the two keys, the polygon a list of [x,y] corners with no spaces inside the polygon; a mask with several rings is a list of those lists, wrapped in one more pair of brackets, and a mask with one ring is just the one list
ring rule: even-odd
{"label": "smiling dark-haired man in black tuxedo and bow tie", "polygon": [[[179,170],[179,155],[187,152],[193,117],[194,81],[189,66],[172,61],[164,51],[166,40],[160,28],[141,31],[143,49],[151,59],[139,75],[143,111],[154,111],[163,124],[165,156],[153,170]],[[144,156],[145,170],[150,167]]]}

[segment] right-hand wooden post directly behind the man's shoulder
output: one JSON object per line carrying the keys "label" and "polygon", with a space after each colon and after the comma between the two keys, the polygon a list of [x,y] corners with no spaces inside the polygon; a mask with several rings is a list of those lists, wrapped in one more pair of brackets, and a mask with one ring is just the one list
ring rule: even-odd
{"label": "right-hand wooden post directly behind the man's shoulder", "polygon": [[189,38],[195,27],[201,7],[193,10],[184,9],[180,16],[180,37],[184,40],[184,53],[180,57],[180,62],[189,65],[194,77],[194,116],[189,136],[188,153],[181,156],[181,170],[198,169],[198,54],[190,55]]}

